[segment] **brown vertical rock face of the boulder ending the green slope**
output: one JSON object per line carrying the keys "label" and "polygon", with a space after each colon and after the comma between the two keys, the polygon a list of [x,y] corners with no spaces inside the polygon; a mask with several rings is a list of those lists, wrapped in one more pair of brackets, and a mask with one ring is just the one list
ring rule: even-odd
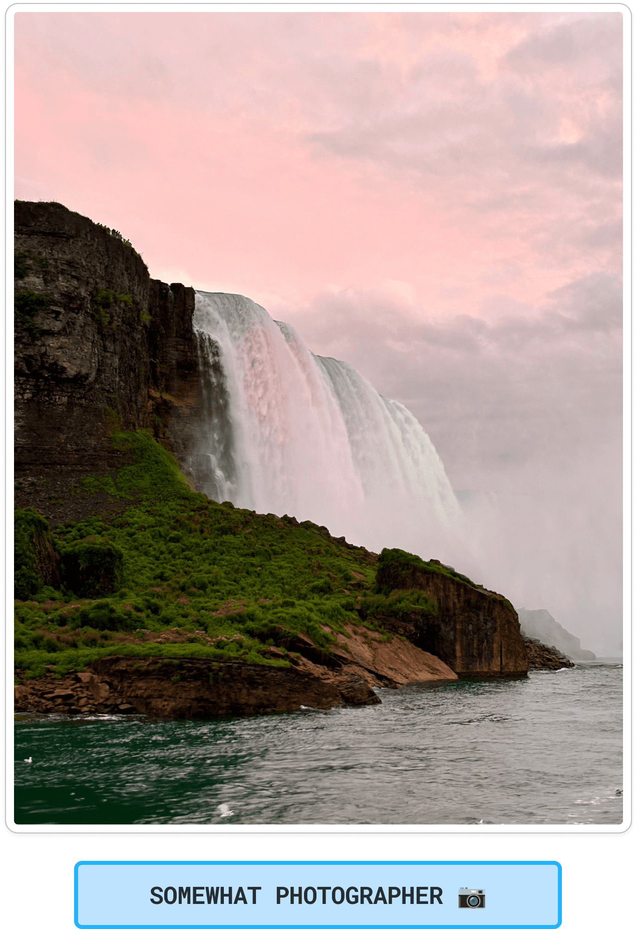
{"label": "brown vertical rock face of the boulder ending the green slope", "polygon": [[[431,652],[456,674],[526,674],[528,657],[511,604],[448,573],[409,561],[379,562],[384,590],[423,590],[437,604],[435,615],[377,619],[392,632]],[[400,628],[398,628],[400,627]]]}

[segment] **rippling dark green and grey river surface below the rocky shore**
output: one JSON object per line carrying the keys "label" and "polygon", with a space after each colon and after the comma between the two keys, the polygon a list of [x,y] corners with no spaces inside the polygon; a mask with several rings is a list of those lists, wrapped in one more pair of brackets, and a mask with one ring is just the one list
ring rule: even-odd
{"label": "rippling dark green and grey river surface below the rocky shore", "polygon": [[[17,823],[620,823],[622,666],[378,691],[380,706],[20,716]],[[27,764],[25,758],[32,758]]]}

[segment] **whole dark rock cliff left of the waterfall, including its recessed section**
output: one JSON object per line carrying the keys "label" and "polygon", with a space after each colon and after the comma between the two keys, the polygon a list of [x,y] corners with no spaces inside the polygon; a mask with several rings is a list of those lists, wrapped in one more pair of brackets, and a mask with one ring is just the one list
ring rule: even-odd
{"label": "whole dark rock cliff left of the waterfall, including its recessed section", "polygon": [[15,294],[16,473],[43,490],[21,505],[51,510],[65,475],[121,466],[118,427],[178,456],[202,405],[192,288],[151,280],[119,234],[59,203],[17,202]]}

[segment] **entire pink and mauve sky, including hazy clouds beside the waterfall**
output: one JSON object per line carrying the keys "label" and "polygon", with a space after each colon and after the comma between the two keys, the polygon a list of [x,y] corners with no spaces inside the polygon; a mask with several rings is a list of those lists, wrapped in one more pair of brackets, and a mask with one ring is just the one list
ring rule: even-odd
{"label": "entire pink and mauve sky, including hazy clouds beside the waterfall", "polygon": [[15,196],[252,297],[404,402],[456,490],[498,495],[487,586],[617,653],[622,15],[35,7],[15,29]]}

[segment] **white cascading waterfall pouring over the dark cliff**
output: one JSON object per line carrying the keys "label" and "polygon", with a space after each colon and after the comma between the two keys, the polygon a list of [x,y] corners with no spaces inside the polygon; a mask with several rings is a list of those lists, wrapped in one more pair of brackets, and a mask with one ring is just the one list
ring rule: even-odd
{"label": "white cascading waterfall pouring over the dark cliff", "polygon": [[292,326],[247,297],[197,292],[193,325],[223,395],[202,428],[202,489],[247,509],[311,519],[376,551],[447,549],[460,508],[430,438],[404,406],[344,361],[314,355]]}

